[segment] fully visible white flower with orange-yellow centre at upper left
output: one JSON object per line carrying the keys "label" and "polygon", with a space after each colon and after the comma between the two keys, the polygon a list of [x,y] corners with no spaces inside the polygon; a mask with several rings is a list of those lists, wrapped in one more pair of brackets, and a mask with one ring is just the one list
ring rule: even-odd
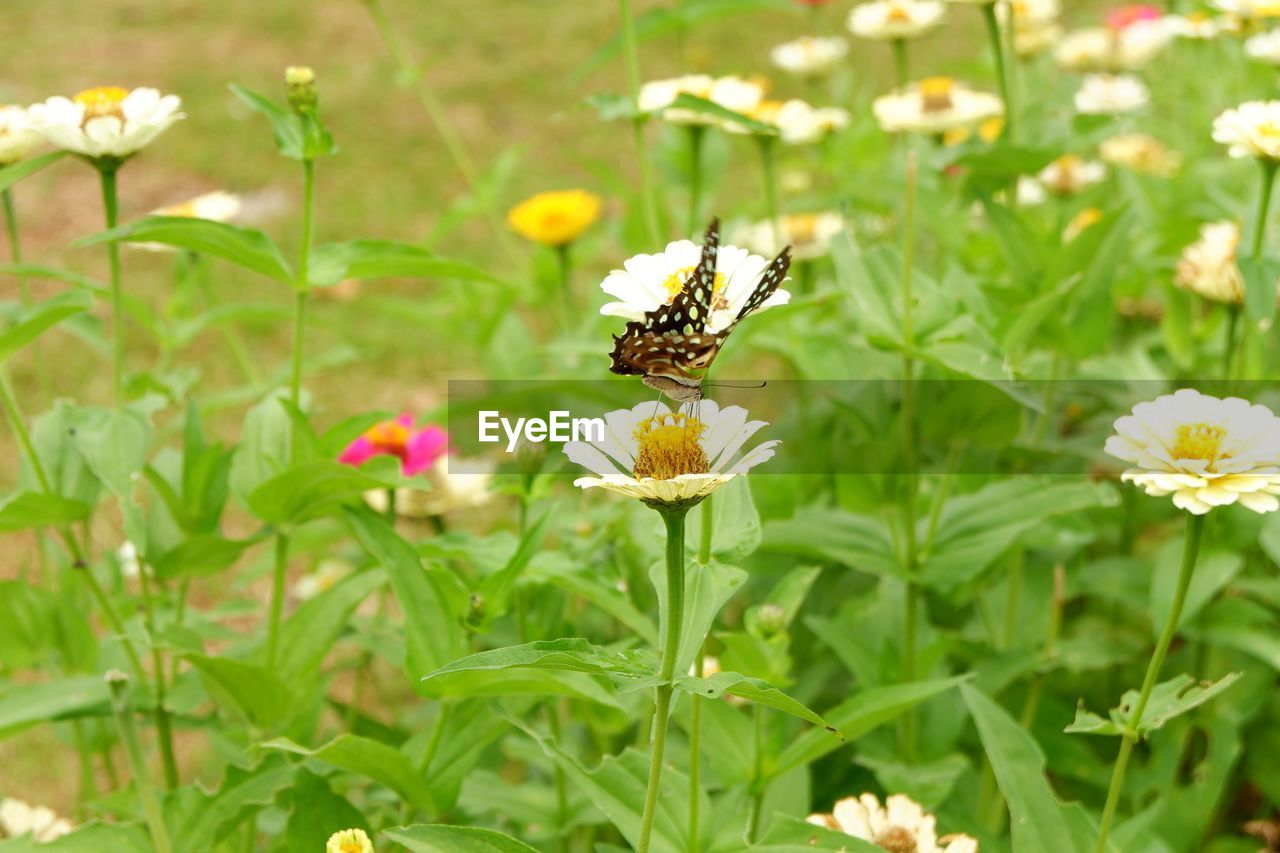
{"label": "fully visible white flower with orange-yellow centre at upper left", "polygon": [[88,88],[73,97],[50,97],[28,113],[51,145],[91,160],[129,158],[183,118],[182,100],[154,88]]}

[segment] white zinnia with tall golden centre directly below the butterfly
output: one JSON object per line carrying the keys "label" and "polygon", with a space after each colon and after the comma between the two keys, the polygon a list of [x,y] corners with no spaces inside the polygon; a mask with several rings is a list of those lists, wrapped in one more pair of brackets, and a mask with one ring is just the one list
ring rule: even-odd
{"label": "white zinnia with tall golden centre directly below the butterfly", "polygon": [[771,459],[781,443],[768,441],[744,453],[746,442],[768,424],[748,420],[741,406],[721,409],[714,400],[701,400],[690,411],[672,412],[652,401],[611,411],[603,441],[566,442],[564,455],[595,474],[573,485],[655,507],[696,503]]}

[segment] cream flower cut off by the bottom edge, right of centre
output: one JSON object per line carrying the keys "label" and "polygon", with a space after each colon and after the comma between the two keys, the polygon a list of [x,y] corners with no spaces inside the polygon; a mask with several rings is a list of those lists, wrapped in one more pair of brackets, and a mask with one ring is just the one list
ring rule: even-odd
{"label": "cream flower cut off by the bottom edge, right of centre", "polygon": [[905,794],[891,794],[881,806],[874,794],[837,800],[831,815],[810,815],[808,821],[892,853],[978,853],[968,835],[940,839],[937,818]]}

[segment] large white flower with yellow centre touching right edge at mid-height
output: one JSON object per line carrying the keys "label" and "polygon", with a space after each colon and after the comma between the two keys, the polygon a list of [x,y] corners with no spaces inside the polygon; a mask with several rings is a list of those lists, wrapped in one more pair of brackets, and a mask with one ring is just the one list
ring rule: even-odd
{"label": "large white flower with yellow centre touching right edge at mid-height", "polygon": [[1147,494],[1171,494],[1193,515],[1231,503],[1280,508],[1280,418],[1266,406],[1183,388],[1138,403],[1115,432],[1106,452],[1134,465],[1121,480]]}

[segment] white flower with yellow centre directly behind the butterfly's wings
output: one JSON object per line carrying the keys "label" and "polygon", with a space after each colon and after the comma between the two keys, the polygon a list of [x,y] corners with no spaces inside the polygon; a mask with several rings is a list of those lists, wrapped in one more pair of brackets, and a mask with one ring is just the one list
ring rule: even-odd
{"label": "white flower with yellow centre directly behind the butterfly's wings", "polygon": [[[689,240],[667,243],[660,255],[628,257],[622,269],[609,273],[600,289],[616,297],[600,309],[605,316],[644,319],[654,309],[671,302],[684,288],[701,257],[701,247]],[[712,291],[707,332],[719,332],[737,316],[769,261],[737,246],[721,246],[716,255],[716,283]],[[778,288],[759,310],[786,305],[791,295]]]}

